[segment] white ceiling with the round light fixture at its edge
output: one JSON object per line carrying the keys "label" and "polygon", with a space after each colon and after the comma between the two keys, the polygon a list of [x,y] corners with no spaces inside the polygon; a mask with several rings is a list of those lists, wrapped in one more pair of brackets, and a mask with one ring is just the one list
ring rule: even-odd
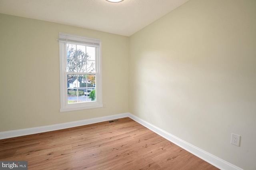
{"label": "white ceiling with the round light fixture at its edge", "polygon": [[0,0],[0,13],[131,36],[188,0]]}

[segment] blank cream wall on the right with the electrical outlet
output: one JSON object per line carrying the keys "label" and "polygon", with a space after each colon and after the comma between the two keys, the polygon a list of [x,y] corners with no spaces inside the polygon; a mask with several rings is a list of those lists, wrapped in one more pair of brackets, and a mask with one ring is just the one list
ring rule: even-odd
{"label": "blank cream wall on the right with the electrical outlet", "polygon": [[256,169],[255,0],[190,0],[132,35],[129,82],[130,113]]}

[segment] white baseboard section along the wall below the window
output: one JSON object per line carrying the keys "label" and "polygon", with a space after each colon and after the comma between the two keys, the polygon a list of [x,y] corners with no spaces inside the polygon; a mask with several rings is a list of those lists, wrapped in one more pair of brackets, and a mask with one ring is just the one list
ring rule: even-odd
{"label": "white baseboard section along the wall below the window", "polygon": [[5,132],[0,132],[0,139],[6,139],[6,138],[13,138],[18,136],[25,136],[29,134],[36,134],[36,133],[42,133],[42,132],[50,132],[53,130],[60,130],[64,128],[72,128],[72,127],[78,127],[83,125],[90,125],[93,123],[100,123],[104,121],[110,121],[114,119],[120,119],[124,117],[129,117],[128,113],[122,113],[118,115],[111,115],[106,117],[98,117],[93,119],[86,119],[82,121],[74,121],[74,122],[68,122],[68,123],[60,123],[56,125],[49,125],[49,126],[42,126],[42,127],[34,127],[34,128],[24,128],[19,130],[10,130]]}

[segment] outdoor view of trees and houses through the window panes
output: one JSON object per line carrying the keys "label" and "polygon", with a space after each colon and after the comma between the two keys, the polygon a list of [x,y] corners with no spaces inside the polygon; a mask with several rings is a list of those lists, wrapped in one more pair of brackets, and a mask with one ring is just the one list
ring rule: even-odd
{"label": "outdoor view of trees and houses through the window panes", "polygon": [[67,44],[68,103],[96,100],[95,47]]}

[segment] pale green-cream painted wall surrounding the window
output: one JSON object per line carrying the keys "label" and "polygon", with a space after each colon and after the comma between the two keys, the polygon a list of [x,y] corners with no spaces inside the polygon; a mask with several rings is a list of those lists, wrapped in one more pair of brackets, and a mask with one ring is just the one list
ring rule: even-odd
{"label": "pale green-cream painted wall surrounding the window", "polygon": [[[102,40],[107,108],[60,113],[59,32]],[[128,112],[128,37],[0,14],[0,132]]]}

